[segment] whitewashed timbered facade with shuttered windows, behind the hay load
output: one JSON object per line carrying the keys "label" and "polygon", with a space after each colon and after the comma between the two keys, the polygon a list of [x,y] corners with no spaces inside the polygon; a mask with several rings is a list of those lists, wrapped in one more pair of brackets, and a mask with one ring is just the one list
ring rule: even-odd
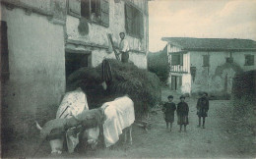
{"label": "whitewashed timbered facade with shuttered windows, behind the hay load", "polygon": [[68,54],[87,53],[91,63],[89,65],[95,67],[104,57],[114,58],[107,34],[112,35],[114,47],[118,49],[119,33],[125,32],[130,45],[129,59],[138,67],[147,68],[147,0],[70,0],[67,5]]}

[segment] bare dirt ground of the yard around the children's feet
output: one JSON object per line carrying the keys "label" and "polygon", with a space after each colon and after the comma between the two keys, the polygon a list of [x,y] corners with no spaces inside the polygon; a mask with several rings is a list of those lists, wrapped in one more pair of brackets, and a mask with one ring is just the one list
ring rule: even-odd
{"label": "bare dirt ground of the yard around the children's feet", "polygon": [[[171,93],[162,89],[162,100]],[[174,102],[179,101],[178,94]],[[152,128],[148,132],[137,126],[133,127],[133,145],[123,144],[122,135],[112,149],[97,148],[87,152],[59,156],[50,155],[49,143],[44,143],[35,157],[61,158],[255,158],[255,136],[251,132],[233,132],[231,122],[232,105],[228,100],[211,100],[206,129],[197,128],[196,99],[186,98],[189,105],[189,126],[187,132],[178,132],[179,127],[173,123],[172,132],[165,129],[165,122],[160,111],[151,115]],[[241,128],[240,128],[241,129]],[[234,130],[235,131],[235,130]],[[32,155],[36,141],[27,145],[27,157]],[[9,152],[11,154],[11,151]],[[21,152],[22,153],[22,152]],[[23,152],[24,153],[24,152]],[[28,154],[29,153],[29,154]],[[12,157],[12,155],[10,156]],[[20,156],[21,157],[21,156]]]}

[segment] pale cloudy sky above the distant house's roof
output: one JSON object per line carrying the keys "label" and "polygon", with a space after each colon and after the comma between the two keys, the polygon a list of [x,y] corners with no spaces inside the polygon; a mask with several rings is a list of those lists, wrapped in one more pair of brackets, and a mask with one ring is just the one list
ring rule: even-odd
{"label": "pale cloudy sky above the distant house's roof", "polygon": [[149,2],[149,50],[161,37],[256,40],[256,0],[153,0]]}

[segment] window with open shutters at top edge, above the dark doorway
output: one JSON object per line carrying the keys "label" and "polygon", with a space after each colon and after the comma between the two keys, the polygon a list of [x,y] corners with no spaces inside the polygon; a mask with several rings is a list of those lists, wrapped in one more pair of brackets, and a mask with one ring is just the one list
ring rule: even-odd
{"label": "window with open shutters at top edge, above the dark doorway", "polygon": [[82,17],[104,27],[109,26],[108,0],[69,0],[69,14]]}

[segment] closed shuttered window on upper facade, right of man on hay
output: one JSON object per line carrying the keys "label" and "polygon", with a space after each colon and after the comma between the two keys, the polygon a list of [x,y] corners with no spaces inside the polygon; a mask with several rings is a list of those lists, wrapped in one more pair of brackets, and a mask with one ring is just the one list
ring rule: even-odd
{"label": "closed shuttered window on upper facade, right of man on hay", "polygon": [[144,35],[143,14],[130,4],[125,4],[125,28],[129,35],[140,38]]}

